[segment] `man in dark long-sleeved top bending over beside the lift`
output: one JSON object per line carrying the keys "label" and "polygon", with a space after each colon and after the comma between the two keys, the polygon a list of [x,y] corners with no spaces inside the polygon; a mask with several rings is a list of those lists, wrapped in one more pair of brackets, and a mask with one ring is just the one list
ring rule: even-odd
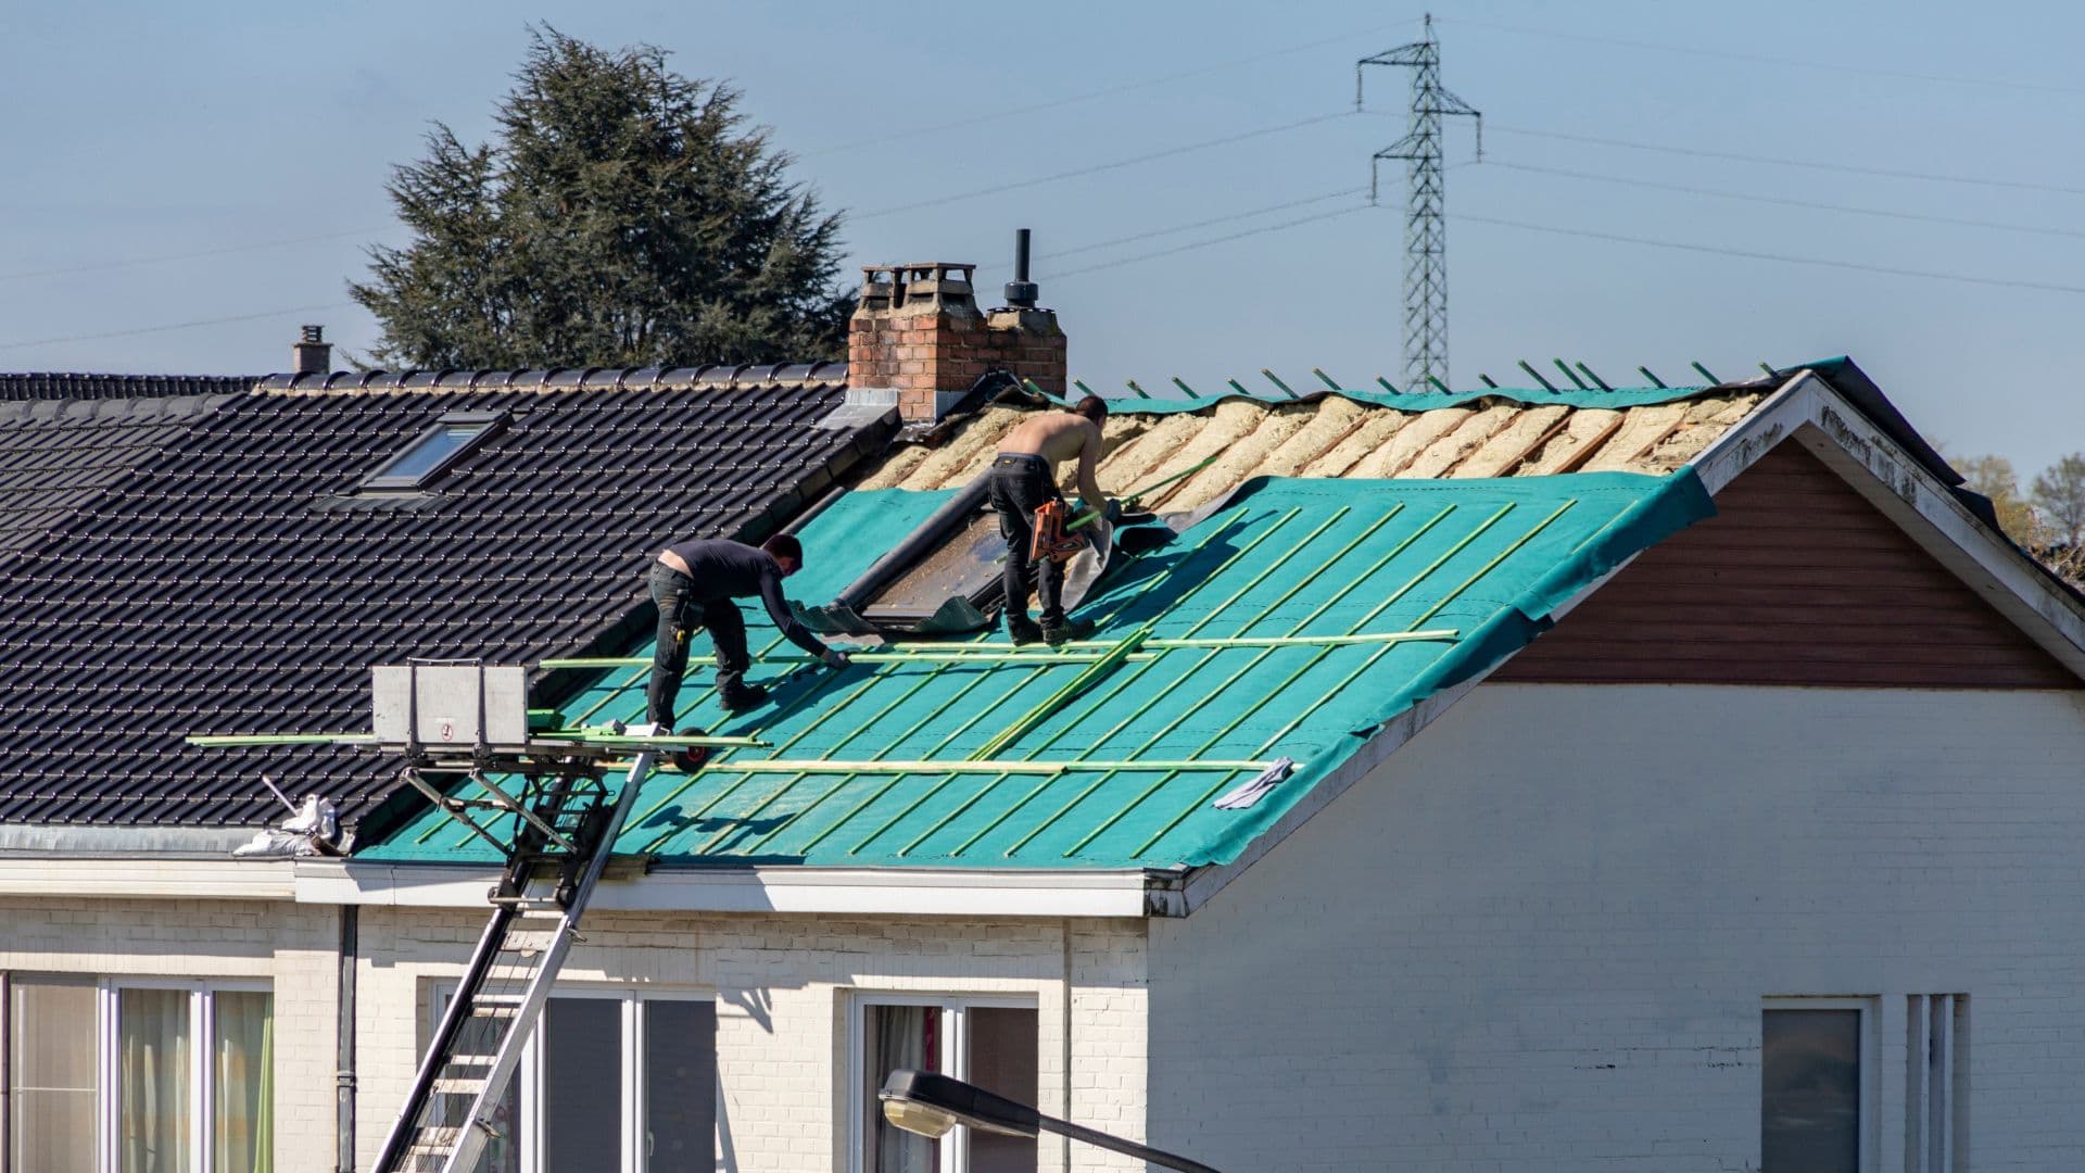
{"label": "man in dark long-sleeved top bending over beside the lift", "polygon": [[653,678],[644,693],[644,716],[657,728],[673,728],[673,701],[688,670],[688,635],[705,628],[717,645],[717,697],[726,712],[742,712],[767,699],[767,689],[746,685],[746,618],[732,599],[761,597],[767,618],[796,647],[817,655],[828,668],[847,668],[847,653],[826,647],[805,630],[782,599],[782,580],[803,568],[803,543],[776,534],[759,547],[726,538],[692,538],[659,551],[651,568],[653,603],[659,605],[659,639],[653,643]]}

